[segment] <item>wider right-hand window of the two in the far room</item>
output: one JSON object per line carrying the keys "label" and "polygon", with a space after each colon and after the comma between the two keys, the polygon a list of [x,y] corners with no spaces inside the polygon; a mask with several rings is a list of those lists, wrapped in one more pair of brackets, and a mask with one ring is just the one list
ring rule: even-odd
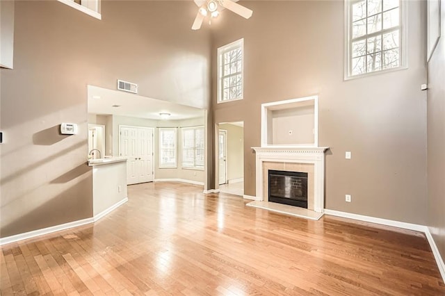
{"label": "wider right-hand window of the two in the far room", "polygon": [[182,167],[204,169],[204,126],[181,129]]}

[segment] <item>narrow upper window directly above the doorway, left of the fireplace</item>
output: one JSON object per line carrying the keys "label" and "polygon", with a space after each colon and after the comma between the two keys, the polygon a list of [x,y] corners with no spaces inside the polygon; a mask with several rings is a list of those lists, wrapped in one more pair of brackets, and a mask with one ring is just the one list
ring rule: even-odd
{"label": "narrow upper window directly above the doorway, left of the fireplace", "polygon": [[218,103],[243,99],[243,41],[218,48]]}

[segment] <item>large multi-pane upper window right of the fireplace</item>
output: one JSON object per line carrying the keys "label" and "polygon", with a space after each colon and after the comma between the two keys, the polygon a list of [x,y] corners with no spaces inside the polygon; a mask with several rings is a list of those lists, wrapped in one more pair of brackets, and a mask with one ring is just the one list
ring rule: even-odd
{"label": "large multi-pane upper window right of the fireplace", "polygon": [[346,0],[346,78],[405,67],[403,0]]}

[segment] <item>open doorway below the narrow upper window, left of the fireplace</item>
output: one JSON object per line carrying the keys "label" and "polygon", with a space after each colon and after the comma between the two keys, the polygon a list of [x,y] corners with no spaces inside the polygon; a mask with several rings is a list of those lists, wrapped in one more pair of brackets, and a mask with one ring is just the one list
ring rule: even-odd
{"label": "open doorway below the narrow upper window, left of the fireplace", "polygon": [[244,124],[218,124],[218,183],[220,192],[244,194]]}

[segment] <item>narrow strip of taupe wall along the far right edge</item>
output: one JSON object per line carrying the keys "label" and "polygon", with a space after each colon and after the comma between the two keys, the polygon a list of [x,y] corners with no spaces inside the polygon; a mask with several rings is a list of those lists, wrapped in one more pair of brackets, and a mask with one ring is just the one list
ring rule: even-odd
{"label": "narrow strip of taupe wall along the far right edge", "polygon": [[428,63],[428,226],[445,258],[445,1],[442,37]]}

